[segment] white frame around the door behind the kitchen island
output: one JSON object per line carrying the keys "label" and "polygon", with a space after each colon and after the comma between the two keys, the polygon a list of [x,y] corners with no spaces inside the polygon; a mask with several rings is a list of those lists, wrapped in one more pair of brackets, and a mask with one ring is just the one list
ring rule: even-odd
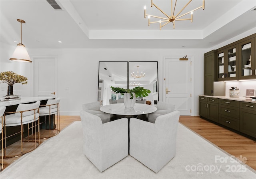
{"label": "white frame around the door behind the kitchen island", "polygon": [[[55,96],[57,97],[57,94],[58,94],[58,58],[57,56],[33,56],[32,57],[32,62],[35,62],[36,58],[54,58],[54,75],[55,75]],[[32,79],[32,82],[33,82],[33,96],[36,95],[36,79],[35,79],[35,75],[36,75],[36,63],[33,63],[33,79]]]}

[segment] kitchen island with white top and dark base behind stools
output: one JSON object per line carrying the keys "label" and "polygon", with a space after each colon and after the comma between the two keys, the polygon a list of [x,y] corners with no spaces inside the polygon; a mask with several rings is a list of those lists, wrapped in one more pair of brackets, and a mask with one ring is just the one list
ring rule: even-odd
{"label": "kitchen island with white top and dark base behind stools", "polygon": [[[5,112],[14,112],[16,111],[19,104],[28,104],[40,101],[40,105],[46,105],[48,99],[55,99],[55,97],[20,97],[21,99],[12,100],[12,101],[0,101],[0,106],[6,106]],[[51,117],[52,118],[52,117]],[[53,116],[54,118],[54,116]],[[16,131],[20,130],[20,126],[6,127],[6,135],[12,135]],[[28,135],[28,124],[24,124],[24,137]],[[15,143],[20,140],[20,135],[14,135],[6,139],[6,146]]]}

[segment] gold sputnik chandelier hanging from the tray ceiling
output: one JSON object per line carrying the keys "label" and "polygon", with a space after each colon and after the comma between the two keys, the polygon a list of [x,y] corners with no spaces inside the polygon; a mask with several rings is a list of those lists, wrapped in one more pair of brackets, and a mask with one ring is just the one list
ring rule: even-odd
{"label": "gold sputnik chandelier hanging from the tray ceiling", "polygon": [[[171,0],[172,1],[172,0]],[[175,8],[176,8],[176,3],[177,3],[177,0],[175,0],[175,4],[174,4],[174,8],[173,8],[173,3],[171,4],[171,14],[170,16],[168,16],[168,14],[166,14],[164,11],[162,11],[158,6],[156,6],[156,4],[153,3],[153,0],[151,0],[151,7],[152,6],[155,6],[158,10],[160,10],[166,17],[160,17],[160,16],[153,16],[153,15],[150,15],[150,14],[146,14],[146,6],[144,6],[144,18],[146,18],[146,16],[148,16],[148,26],[150,26],[150,24],[152,23],[159,23],[160,24],[160,30],[163,26],[165,26],[166,24],[169,24],[170,22],[172,22],[173,24],[173,28],[175,28],[175,21],[178,21],[178,20],[191,20],[191,22],[193,22],[193,12],[195,10],[198,10],[200,8],[203,8],[204,10],[204,0],[203,1],[203,5],[198,7],[198,8],[195,8],[194,10],[190,10],[189,12],[186,12],[185,14],[182,14],[180,15],[180,13],[184,10],[184,8],[186,8],[188,6],[188,4],[190,4],[192,0],[189,0],[189,2],[178,12],[178,14],[174,15],[174,12],[175,12]],[[191,18],[186,18],[186,19],[182,19],[181,17],[187,15],[187,14],[191,14]],[[153,18],[158,18],[160,19],[159,21],[154,21],[154,22],[150,22],[150,17],[153,17]],[[163,25],[161,23],[164,23]]]}

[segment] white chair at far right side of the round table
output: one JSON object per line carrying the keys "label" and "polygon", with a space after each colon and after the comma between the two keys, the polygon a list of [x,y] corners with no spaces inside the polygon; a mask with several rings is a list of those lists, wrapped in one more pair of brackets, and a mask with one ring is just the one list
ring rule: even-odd
{"label": "white chair at far right side of the round table", "polygon": [[175,109],[175,105],[171,104],[171,103],[165,103],[162,101],[158,101],[156,108],[157,108],[157,110],[154,113],[148,114],[149,122],[154,123],[158,116],[173,112]]}

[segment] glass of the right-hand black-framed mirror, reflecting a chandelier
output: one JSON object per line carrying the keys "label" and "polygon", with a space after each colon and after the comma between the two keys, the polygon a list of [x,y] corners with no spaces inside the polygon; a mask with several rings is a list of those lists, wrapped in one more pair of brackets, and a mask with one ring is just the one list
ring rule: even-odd
{"label": "glass of the right-hand black-framed mirror, reflecting a chandelier", "polygon": [[[154,105],[158,101],[158,62],[129,62],[129,88],[142,86],[151,93],[146,97],[136,98],[136,103],[150,101]],[[145,100],[146,99],[146,100]]]}

